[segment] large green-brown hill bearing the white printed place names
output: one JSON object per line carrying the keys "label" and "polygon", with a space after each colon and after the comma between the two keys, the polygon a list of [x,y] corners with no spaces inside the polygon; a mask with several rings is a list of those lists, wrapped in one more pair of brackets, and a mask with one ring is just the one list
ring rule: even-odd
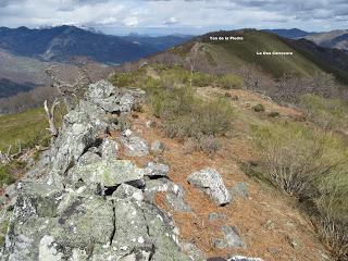
{"label": "large green-brown hill bearing the white printed place names", "polygon": [[[243,40],[216,40],[216,37],[243,37]],[[284,75],[310,79],[323,74],[334,75],[343,85],[348,83],[348,54],[344,51],[322,48],[303,39],[290,40],[254,29],[210,33],[196,37],[192,41],[166,53],[181,57],[179,60],[184,63],[189,57],[194,60],[197,57],[196,67],[199,71],[217,70],[219,73],[219,70],[222,72],[232,70],[238,71],[246,78],[257,73],[259,74],[254,78],[257,85],[264,77],[269,77],[268,82],[274,79],[277,82]],[[169,55],[167,59],[175,63],[174,57]],[[161,57],[165,60],[165,52],[152,60],[160,61]]]}

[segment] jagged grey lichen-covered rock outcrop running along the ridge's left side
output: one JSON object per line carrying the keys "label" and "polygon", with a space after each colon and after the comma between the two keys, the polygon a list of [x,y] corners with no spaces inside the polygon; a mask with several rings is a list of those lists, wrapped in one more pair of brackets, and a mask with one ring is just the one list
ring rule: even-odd
{"label": "jagged grey lichen-covered rock outcrop running along the ridge's left side", "polygon": [[[164,189],[173,208],[189,209],[169,166],[117,160],[119,142],[103,138],[136,96],[104,80],[89,86],[64,116],[49,161],[38,162],[40,172],[20,182],[13,206],[1,211],[0,260],[202,260],[183,251],[173,220],[152,203]],[[148,153],[140,137],[119,140],[129,156]]]}

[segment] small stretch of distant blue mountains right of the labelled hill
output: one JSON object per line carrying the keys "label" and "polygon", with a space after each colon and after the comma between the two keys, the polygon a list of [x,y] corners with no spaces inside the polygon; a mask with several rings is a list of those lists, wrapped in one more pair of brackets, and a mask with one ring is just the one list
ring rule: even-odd
{"label": "small stretch of distant blue mountains right of the labelled hill", "polygon": [[304,38],[321,47],[336,48],[348,51],[348,29],[331,30],[323,33],[309,33],[297,28],[293,29],[266,29],[265,32],[289,38]]}

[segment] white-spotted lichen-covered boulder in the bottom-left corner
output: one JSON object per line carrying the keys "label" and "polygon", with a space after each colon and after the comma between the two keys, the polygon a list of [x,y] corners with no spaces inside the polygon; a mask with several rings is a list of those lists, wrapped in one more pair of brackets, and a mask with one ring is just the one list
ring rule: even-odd
{"label": "white-spotted lichen-covered boulder in the bottom-left corner", "polygon": [[18,190],[1,260],[38,260],[40,239],[58,215],[63,191],[40,182],[21,183]]}

